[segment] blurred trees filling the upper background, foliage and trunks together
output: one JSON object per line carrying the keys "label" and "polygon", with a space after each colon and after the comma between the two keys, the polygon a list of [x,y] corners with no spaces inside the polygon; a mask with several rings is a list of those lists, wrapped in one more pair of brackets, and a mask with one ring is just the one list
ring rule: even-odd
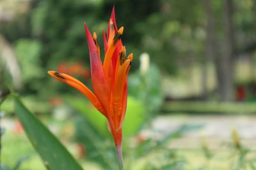
{"label": "blurred trees filling the upper background, foliage and trunks together", "polygon": [[[256,3],[254,0],[225,0],[225,3],[203,1],[205,3],[198,0],[30,1],[26,13],[15,15],[12,20],[0,20],[0,32],[16,47],[17,52],[38,52],[38,55],[30,53],[29,59],[22,60],[23,64],[20,62],[21,65],[40,67],[40,73],[36,74],[37,85],[26,86],[24,92],[44,91],[39,81],[44,81],[54,91],[58,85],[52,88],[54,85],[45,71],[56,69],[63,61],[68,64],[83,61],[81,63],[88,66],[83,23],[86,22],[91,31],[97,32],[102,46],[100,34],[106,28],[109,13],[115,4],[118,27],[125,27],[123,41],[127,52],[134,53],[133,71],[139,66],[138,56],[141,52],[148,52],[152,62],[167,74],[177,75],[177,70],[203,62],[202,87],[203,94],[207,94],[206,63],[207,60],[213,61],[218,79],[218,96],[223,101],[230,100],[236,81],[232,74],[237,56],[244,53],[252,56],[256,49],[253,27],[253,24],[256,25],[253,10]],[[236,11],[232,11],[232,5]],[[236,48],[233,34],[236,34]],[[29,50],[33,46],[37,46],[38,50]],[[23,59],[24,56],[23,53],[18,58]],[[24,64],[30,59],[34,62]],[[24,66],[21,67],[24,69]],[[191,73],[187,73],[187,76],[191,76]],[[24,80],[28,80],[28,77],[22,74]],[[45,91],[40,94],[45,96]]]}

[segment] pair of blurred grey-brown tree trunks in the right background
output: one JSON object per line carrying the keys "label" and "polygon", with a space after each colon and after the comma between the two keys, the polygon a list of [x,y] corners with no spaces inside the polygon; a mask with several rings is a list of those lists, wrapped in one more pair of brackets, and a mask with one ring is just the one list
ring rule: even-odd
{"label": "pair of blurred grey-brown tree trunks in the right background", "polygon": [[222,50],[220,48],[220,44],[218,44],[216,41],[216,25],[214,19],[214,10],[212,9],[212,0],[204,0],[205,12],[207,15],[205,60],[209,58],[214,60],[218,82],[217,89],[220,101],[231,101],[234,94],[234,32],[232,25],[233,2],[232,0],[224,1],[223,18],[225,43],[223,44]]}

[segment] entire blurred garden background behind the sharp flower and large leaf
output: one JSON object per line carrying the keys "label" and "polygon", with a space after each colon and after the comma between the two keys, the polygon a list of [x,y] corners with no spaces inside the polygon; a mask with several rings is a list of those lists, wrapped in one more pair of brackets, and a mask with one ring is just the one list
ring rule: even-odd
{"label": "entire blurred garden background behind the sharp flower and large leaf", "polygon": [[254,0],[1,0],[1,168],[45,169],[6,99],[16,92],[86,169],[116,169],[104,117],[47,74],[92,87],[83,24],[103,53],[114,5],[134,53],[127,169],[255,169]]}

